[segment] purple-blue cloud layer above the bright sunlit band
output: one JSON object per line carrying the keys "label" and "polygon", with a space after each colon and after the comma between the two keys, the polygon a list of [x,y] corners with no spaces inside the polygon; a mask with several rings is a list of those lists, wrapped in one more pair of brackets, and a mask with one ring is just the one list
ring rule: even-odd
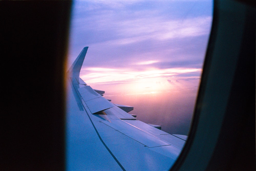
{"label": "purple-blue cloud layer above the bright sunlit band", "polygon": [[182,2],[76,1],[74,7],[69,66],[85,46],[89,46],[84,65],[88,67],[142,71],[148,66],[202,65],[212,17],[188,16],[177,10],[191,12]]}

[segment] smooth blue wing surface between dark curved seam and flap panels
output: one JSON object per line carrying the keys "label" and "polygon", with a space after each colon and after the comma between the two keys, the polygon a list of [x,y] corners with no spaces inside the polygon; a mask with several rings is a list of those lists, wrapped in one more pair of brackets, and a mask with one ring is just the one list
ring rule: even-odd
{"label": "smooth blue wing surface between dark curved seam and flap panels", "polygon": [[95,123],[95,127],[103,141],[127,171],[169,170],[180,153],[180,149],[172,145],[149,148],[102,122]]}

